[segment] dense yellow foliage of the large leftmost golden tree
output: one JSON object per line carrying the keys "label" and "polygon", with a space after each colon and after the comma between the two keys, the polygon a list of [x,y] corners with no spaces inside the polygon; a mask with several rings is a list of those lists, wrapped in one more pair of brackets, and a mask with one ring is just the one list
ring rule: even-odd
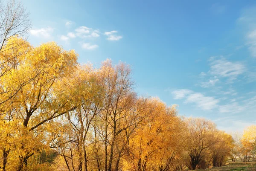
{"label": "dense yellow foliage of the large leftmost golden tree", "polygon": [[77,92],[67,93],[72,89],[62,87],[61,80],[71,80],[78,55],[54,42],[34,48],[17,37],[9,39],[6,46],[0,52],[1,119],[5,120],[3,128],[10,129],[4,140],[13,142],[11,153],[22,168],[34,154],[58,142],[63,126],[55,124],[57,118],[76,108],[77,99],[72,96]]}

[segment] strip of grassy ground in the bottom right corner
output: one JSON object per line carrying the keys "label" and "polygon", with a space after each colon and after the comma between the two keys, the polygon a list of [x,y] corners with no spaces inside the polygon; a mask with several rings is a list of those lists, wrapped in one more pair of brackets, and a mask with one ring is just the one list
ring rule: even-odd
{"label": "strip of grassy ground in the bottom right corner", "polygon": [[200,169],[200,171],[256,171],[256,162],[231,162],[221,167]]}

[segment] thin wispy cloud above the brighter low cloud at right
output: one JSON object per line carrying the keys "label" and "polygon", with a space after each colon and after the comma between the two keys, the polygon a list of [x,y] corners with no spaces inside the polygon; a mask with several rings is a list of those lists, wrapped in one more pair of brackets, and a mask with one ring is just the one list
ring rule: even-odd
{"label": "thin wispy cloud above the brighter low cloud at right", "polygon": [[219,75],[221,77],[227,77],[230,80],[234,80],[245,72],[246,67],[241,62],[231,62],[226,58],[216,59],[211,57],[209,59],[210,63],[210,73],[212,75]]}

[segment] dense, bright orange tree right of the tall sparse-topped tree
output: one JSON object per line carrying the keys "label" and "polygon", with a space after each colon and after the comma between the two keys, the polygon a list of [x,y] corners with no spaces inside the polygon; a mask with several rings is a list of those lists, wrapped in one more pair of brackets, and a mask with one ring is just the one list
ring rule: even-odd
{"label": "dense, bright orange tree right of the tall sparse-topped tree", "polygon": [[182,149],[182,127],[175,106],[167,107],[159,99],[151,98],[142,114],[146,119],[129,140],[125,167],[133,171],[169,171]]}

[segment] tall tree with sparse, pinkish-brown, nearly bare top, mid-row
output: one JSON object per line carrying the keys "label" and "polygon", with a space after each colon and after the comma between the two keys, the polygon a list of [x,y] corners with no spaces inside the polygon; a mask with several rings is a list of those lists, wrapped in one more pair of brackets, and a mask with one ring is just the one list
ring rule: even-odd
{"label": "tall tree with sparse, pinkish-brown, nearly bare top, mid-row", "polygon": [[[113,66],[111,60],[104,61],[99,69],[99,77],[99,84],[104,90],[103,108],[99,115],[101,124],[95,123],[94,127],[97,130],[96,134],[104,142],[103,170],[111,171],[119,136],[132,125],[137,124],[136,119],[128,125],[126,122],[129,117],[132,117],[137,94],[133,91],[131,69],[124,63]],[[116,165],[115,167],[118,168],[118,164]]]}

